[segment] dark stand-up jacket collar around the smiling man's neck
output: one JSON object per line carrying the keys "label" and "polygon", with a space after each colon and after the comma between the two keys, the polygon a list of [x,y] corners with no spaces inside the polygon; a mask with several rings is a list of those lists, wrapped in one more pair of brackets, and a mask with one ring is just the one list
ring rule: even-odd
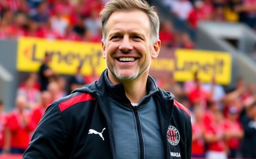
{"label": "dark stand-up jacket collar around the smiling man's neck", "polygon": [[[101,74],[97,88],[102,98],[108,95],[117,102],[130,103],[129,99],[125,95],[124,86],[122,84],[111,84],[108,77],[108,69],[104,70],[104,72]],[[146,102],[149,97],[158,92],[158,87],[150,76],[148,76],[146,81],[146,90],[148,95],[143,97],[140,102]]]}

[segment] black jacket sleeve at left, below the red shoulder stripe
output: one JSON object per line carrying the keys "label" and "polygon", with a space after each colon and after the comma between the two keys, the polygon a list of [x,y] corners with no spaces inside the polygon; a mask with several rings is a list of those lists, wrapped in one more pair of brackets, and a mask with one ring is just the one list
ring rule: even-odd
{"label": "black jacket sleeve at left, below the red shoulder stripe", "polygon": [[65,158],[67,130],[56,102],[46,110],[34,132],[23,159]]}

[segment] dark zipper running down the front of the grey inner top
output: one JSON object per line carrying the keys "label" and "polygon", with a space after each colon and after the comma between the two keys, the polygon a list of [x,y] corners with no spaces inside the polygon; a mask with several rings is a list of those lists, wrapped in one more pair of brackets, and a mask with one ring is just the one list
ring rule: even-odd
{"label": "dark zipper running down the front of the grey inner top", "polygon": [[138,114],[138,106],[132,106],[134,110],[134,115],[136,119],[136,124],[137,124],[137,131],[139,135],[139,142],[140,142],[140,159],[144,159],[144,147],[143,147],[143,138],[142,138],[142,133],[141,133],[141,128],[140,128],[140,119],[139,119],[139,114]]}

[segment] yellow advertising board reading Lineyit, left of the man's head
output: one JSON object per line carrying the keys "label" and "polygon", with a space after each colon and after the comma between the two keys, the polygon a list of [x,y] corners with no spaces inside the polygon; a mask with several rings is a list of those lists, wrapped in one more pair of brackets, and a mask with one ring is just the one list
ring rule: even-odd
{"label": "yellow advertising board reading Lineyit, left of the man's head", "polygon": [[18,71],[38,71],[45,53],[52,56],[50,67],[59,74],[74,74],[82,65],[82,74],[101,74],[106,68],[100,43],[71,42],[65,40],[44,40],[20,38],[18,40]]}

